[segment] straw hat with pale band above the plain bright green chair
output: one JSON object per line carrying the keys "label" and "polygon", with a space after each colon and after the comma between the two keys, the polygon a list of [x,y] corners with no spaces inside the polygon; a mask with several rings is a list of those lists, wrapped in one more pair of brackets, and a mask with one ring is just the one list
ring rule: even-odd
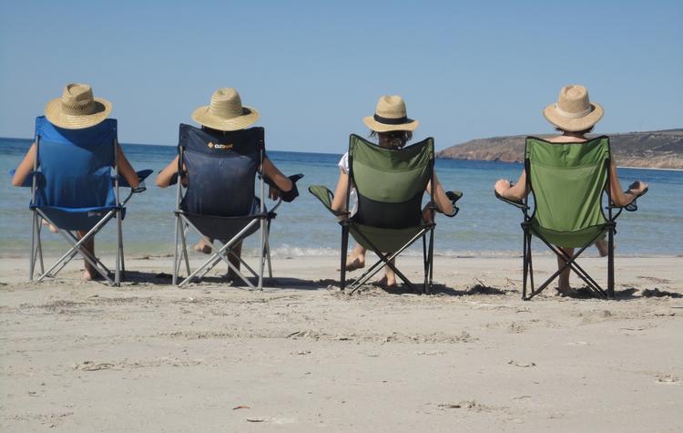
{"label": "straw hat with pale band above the plain bright green chair", "polygon": [[603,116],[603,109],[588,99],[588,90],[576,84],[565,86],[555,104],[543,109],[543,115],[550,123],[566,131],[589,129]]}

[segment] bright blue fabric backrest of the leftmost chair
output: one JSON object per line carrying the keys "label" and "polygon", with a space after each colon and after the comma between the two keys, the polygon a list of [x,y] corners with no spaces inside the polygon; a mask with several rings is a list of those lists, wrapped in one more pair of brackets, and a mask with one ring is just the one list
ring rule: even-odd
{"label": "bright blue fabric backrest of the leftmost chair", "polygon": [[41,178],[37,206],[96,208],[116,206],[111,169],[116,161],[117,120],[87,129],[63,129],[36,118],[37,161]]}

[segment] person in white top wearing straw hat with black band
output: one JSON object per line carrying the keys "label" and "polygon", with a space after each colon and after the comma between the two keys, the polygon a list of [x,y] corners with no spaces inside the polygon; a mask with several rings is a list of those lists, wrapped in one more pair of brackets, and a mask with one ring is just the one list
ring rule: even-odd
{"label": "person in white top wearing straw hat with black band", "polygon": [[[400,96],[382,96],[377,103],[375,113],[373,116],[363,118],[363,123],[371,129],[370,137],[377,139],[377,144],[382,148],[388,149],[402,149],[405,144],[413,139],[413,131],[417,129],[420,124],[419,121],[408,119],[405,102]],[[347,211],[346,208],[346,194],[349,184],[349,153],[342,156],[339,161],[339,180],[334,190],[334,200],[332,201],[332,209],[334,211]],[[453,212],[453,200],[446,195],[443,187],[434,173],[435,188],[434,201],[439,211],[450,214]],[[431,194],[431,181],[427,184],[425,192]],[[354,188],[350,192],[350,212],[349,216],[353,216],[357,211],[357,197]],[[430,221],[432,218],[432,211],[429,207],[425,207],[423,211],[424,221]],[[346,270],[354,271],[365,266],[365,248],[356,244],[350,256],[346,259]],[[388,266],[384,268],[384,277],[381,284],[386,287],[393,287],[396,285],[396,276],[392,269]]]}

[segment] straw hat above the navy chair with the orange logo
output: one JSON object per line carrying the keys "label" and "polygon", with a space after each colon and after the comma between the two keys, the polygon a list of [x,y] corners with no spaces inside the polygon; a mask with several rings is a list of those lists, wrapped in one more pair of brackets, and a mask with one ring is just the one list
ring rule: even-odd
{"label": "straw hat above the navy chair with the orange logo", "polygon": [[219,130],[244,129],[259,119],[256,108],[243,107],[234,88],[219,88],[211,95],[211,103],[192,112],[200,125]]}

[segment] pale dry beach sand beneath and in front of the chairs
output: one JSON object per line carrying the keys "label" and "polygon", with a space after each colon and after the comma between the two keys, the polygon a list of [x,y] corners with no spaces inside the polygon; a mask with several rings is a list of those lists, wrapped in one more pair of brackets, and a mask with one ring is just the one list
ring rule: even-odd
{"label": "pale dry beach sand beneath and in front of the chairs", "polygon": [[679,257],[617,258],[618,301],[530,302],[521,259],[437,257],[433,296],[341,294],[333,257],[276,260],[263,292],[178,289],[168,258],[119,288],[26,262],[1,268],[2,431],[683,429]]}

